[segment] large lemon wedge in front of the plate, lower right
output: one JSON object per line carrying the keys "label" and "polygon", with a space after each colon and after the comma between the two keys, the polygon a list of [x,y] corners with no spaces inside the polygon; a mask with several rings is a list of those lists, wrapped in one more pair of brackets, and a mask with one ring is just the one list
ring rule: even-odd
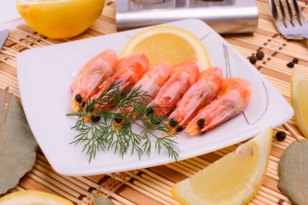
{"label": "large lemon wedge in front of the plate, lower right", "polygon": [[191,178],[176,183],[171,193],[182,205],[246,205],[260,190],[269,163],[273,128]]}

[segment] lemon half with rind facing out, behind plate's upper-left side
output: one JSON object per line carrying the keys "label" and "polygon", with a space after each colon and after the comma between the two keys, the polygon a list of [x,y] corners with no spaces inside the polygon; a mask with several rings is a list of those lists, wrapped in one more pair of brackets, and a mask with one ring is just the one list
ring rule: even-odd
{"label": "lemon half with rind facing out, behind plate's upper-left side", "polygon": [[105,0],[17,0],[27,25],[49,38],[70,38],[88,29],[101,15]]}

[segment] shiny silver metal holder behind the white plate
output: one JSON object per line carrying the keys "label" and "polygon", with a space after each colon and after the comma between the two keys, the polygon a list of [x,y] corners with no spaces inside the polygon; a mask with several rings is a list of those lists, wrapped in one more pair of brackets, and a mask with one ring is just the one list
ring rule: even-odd
{"label": "shiny silver metal holder behind the white plate", "polygon": [[219,34],[255,32],[255,0],[117,0],[117,30],[200,19]]}

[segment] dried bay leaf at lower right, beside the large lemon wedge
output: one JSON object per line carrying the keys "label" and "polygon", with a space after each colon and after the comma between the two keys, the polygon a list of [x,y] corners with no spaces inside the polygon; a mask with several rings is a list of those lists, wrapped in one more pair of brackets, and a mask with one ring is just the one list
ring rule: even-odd
{"label": "dried bay leaf at lower right, beside the large lemon wedge", "polygon": [[296,205],[307,205],[308,140],[291,143],[282,153],[278,164],[278,188]]}

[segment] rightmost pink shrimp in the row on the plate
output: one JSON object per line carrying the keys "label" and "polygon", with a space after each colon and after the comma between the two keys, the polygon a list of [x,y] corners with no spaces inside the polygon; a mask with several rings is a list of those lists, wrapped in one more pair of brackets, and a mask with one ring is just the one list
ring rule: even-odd
{"label": "rightmost pink shrimp in the row on the plate", "polygon": [[203,134],[240,114],[247,105],[250,96],[251,84],[249,81],[236,77],[223,79],[217,97],[189,122],[185,133]]}

